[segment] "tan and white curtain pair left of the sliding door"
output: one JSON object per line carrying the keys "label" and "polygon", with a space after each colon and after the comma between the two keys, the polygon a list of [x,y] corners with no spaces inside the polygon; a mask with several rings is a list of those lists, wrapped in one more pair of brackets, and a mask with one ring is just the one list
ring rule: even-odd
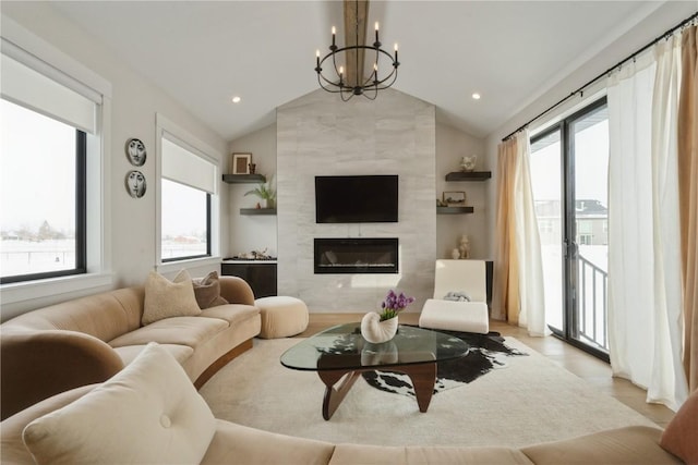
{"label": "tan and white curtain pair left of the sliding door", "polygon": [[501,316],[525,327],[531,335],[549,333],[545,326],[541,241],[530,175],[528,131],[498,147],[497,273]]}

